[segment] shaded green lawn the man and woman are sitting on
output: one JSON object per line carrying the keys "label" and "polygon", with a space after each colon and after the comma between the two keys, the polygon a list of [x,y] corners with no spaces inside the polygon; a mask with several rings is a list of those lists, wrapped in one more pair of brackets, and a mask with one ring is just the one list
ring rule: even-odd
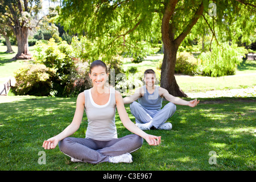
{"label": "shaded green lawn the man and woman are sitting on", "polygon": [[[150,130],[162,136],[159,146],[133,153],[134,162],[72,163],[59,147],[46,150],[46,164],[39,164],[43,141],[71,123],[76,98],[34,96],[0,97],[0,170],[255,170],[256,98],[201,98],[195,107],[177,105],[168,119],[172,130]],[[166,104],[166,102],[164,102]],[[129,105],[126,110],[132,121]],[[116,115],[118,137],[130,134]],[[86,115],[72,137],[85,137]],[[217,164],[209,164],[209,152]]]}

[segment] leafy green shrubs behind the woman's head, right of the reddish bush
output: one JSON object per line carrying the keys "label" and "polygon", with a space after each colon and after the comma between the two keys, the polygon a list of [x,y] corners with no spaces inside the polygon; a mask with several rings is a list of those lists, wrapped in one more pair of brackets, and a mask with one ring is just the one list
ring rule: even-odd
{"label": "leafy green shrubs behind the woman's head, right of the reddish bush", "polygon": [[[35,48],[36,63],[44,64],[47,68],[55,69],[52,78],[52,96],[75,97],[77,94],[92,86],[89,74],[89,65],[96,59],[98,50],[96,45],[85,37],[73,38],[72,44],[61,41],[59,45],[55,39],[50,39],[46,51],[43,52],[42,43],[37,43]],[[115,70],[115,75],[123,72],[120,59],[105,61],[110,69]]]}

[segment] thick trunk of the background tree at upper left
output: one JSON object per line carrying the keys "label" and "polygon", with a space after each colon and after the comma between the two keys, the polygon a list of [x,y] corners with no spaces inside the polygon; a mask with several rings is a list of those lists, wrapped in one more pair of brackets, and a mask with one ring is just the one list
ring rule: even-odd
{"label": "thick trunk of the background tree at upper left", "polygon": [[32,55],[28,51],[28,28],[20,27],[19,30],[15,31],[18,44],[18,53],[14,59],[31,59]]}

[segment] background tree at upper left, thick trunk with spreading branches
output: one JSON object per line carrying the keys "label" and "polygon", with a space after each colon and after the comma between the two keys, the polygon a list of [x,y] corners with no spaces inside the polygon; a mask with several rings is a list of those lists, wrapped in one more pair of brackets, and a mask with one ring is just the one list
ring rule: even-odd
{"label": "background tree at upper left, thick trunk with spreading branches", "polygon": [[31,23],[40,8],[42,0],[0,0],[0,13],[5,17],[17,39],[18,52],[15,59],[31,59],[28,50],[28,30],[35,25]]}

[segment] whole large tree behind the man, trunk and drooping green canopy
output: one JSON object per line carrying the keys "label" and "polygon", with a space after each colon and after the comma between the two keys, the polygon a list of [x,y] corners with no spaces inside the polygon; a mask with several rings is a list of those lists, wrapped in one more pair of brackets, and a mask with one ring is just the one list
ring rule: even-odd
{"label": "whole large tree behind the man, trunk and drooping green canopy", "polygon": [[[212,2],[213,6],[209,6]],[[255,5],[254,1],[242,0],[63,0],[60,20],[73,33],[96,42],[95,54],[102,59],[123,52],[144,55],[146,47],[162,39],[160,85],[174,96],[185,97],[174,76],[181,42],[199,19],[215,39],[246,40],[246,32],[251,28],[246,26],[247,22],[253,19],[255,26]],[[216,27],[220,30],[218,36]],[[196,31],[199,36],[201,32],[200,28]]]}

